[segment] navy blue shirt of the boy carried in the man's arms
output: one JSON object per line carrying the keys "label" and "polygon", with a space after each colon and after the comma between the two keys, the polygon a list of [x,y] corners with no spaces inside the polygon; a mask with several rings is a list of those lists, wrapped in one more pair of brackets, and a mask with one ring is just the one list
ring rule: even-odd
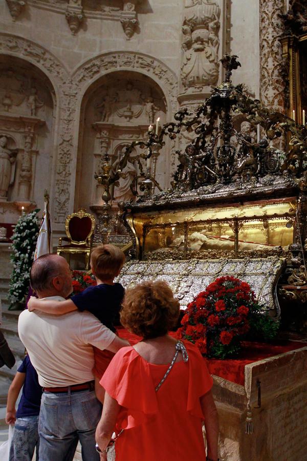
{"label": "navy blue shirt of the boy carried in the man's arms", "polygon": [[78,295],[72,296],[71,300],[78,310],[91,312],[103,325],[116,332],[114,321],[120,311],[124,293],[124,287],[120,283],[100,283],[85,288]]}

